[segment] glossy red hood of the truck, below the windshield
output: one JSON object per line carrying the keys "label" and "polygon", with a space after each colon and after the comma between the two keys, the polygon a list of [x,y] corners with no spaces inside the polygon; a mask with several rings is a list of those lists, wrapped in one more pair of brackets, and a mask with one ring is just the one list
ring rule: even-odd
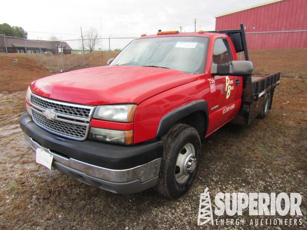
{"label": "glossy red hood of the truck, below the windshield", "polygon": [[140,102],[199,75],[139,66],[101,66],[52,75],[30,84],[33,93],[86,105]]}

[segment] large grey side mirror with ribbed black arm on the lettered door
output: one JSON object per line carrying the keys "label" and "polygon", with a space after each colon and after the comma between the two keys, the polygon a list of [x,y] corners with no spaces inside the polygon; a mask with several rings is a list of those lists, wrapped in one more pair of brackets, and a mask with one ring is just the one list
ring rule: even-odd
{"label": "large grey side mirror with ribbed black arm on the lettered door", "polygon": [[212,63],[211,75],[249,76],[254,74],[254,65],[250,61],[230,61],[221,65]]}

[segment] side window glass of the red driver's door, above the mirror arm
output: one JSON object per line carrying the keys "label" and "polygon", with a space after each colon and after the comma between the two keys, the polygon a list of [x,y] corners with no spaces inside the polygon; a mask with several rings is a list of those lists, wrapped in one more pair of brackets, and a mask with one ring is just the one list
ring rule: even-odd
{"label": "side window glass of the red driver's door, above the mirror arm", "polygon": [[215,64],[224,64],[232,61],[228,42],[224,38],[217,38],[214,42],[212,62]]}

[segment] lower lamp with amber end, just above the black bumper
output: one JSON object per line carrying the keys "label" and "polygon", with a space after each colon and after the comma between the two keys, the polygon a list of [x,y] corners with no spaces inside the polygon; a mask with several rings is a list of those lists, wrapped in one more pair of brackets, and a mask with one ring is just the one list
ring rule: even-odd
{"label": "lower lamp with amber end, just above the black bumper", "polygon": [[133,144],[133,131],[91,127],[90,139],[129,145]]}

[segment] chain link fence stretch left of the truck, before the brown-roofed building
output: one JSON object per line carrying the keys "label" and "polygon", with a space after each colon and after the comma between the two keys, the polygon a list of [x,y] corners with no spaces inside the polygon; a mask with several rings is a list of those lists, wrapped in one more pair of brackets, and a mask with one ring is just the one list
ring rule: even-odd
{"label": "chain link fence stretch left of the truck, before the brown-roofed building", "polygon": [[[133,37],[61,41],[29,40],[0,35],[0,53],[23,56],[52,72],[106,65]],[[87,44],[95,44],[89,47]],[[84,48],[83,48],[84,47]]]}

